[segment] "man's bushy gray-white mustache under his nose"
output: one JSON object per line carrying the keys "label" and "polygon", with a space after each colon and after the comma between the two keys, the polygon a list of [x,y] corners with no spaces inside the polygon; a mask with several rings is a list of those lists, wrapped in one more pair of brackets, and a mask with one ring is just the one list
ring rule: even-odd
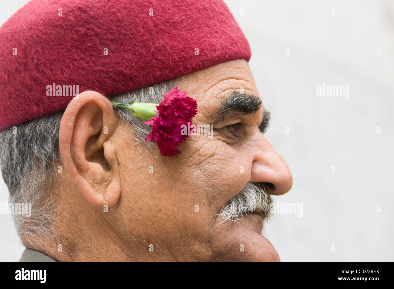
{"label": "man's bushy gray-white mustache under his nose", "polygon": [[243,218],[243,214],[257,212],[261,213],[265,220],[271,216],[272,202],[269,187],[266,184],[248,183],[223,206],[218,215],[223,217],[223,222],[227,220],[236,222]]}

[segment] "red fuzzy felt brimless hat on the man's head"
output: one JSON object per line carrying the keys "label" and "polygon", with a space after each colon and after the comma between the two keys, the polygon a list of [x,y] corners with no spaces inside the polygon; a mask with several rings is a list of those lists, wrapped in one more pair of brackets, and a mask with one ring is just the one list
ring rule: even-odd
{"label": "red fuzzy felt brimless hat on the man's head", "polygon": [[250,57],[221,0],[33,0],[0,28],[0,130]]}

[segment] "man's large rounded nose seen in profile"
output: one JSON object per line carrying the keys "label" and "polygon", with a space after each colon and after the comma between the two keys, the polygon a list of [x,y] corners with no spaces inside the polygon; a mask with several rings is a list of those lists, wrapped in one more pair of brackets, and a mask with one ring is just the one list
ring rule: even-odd
{"label": "man's large rounded nose seen in profile", "polygon": [[268,140],[260,134],[258,144],[253,147],[253,164],[249,182],[273,184],[270,193],[283,195],[293,186],[293,177],[284,159],[278,155]]}

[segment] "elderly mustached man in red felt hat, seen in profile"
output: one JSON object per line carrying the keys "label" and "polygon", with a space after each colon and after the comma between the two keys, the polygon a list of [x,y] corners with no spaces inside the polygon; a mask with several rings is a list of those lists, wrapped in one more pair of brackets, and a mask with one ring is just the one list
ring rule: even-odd
{"label": "elderly mustached man in red felt hat, seen in profile", "polygon": [[[13,215],[22,261],[280,260],[261,232],[292,176],[221,0],[33,0],[0,39],[0,166],[32,208]],[[111,101],[173,88],[213,129],[164,156]]]}

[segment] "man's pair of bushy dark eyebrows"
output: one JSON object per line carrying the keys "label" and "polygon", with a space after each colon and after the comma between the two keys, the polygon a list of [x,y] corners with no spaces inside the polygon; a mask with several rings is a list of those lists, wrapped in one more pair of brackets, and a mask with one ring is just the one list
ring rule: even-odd
{"label": "man's pair of bushy dark eyebrows", "polygon": [[[251,94],[234,91],[229,98],[223,98],[219,109],[217,110],[217,118],[215,123],[223,122],[226,118],[230,118],[234,114],[252,114],[262,108],[260,98]],[[261,133],[265,133],[269,126],[271,113],[264,110],[263,120],[258,129]]]}

